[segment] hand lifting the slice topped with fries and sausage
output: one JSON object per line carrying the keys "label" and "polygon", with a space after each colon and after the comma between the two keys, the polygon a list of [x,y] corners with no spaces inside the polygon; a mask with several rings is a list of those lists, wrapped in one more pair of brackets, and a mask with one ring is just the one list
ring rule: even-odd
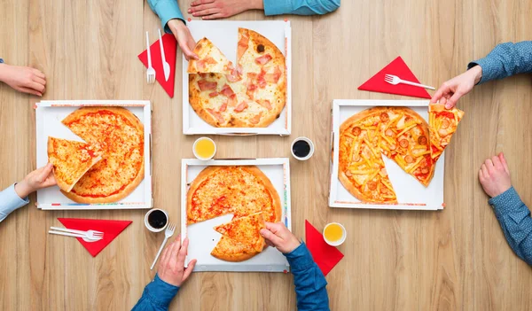
{"label": "hand lifting the slice topped with fries and sausage", "polygon": [[445,108],[451,109],[457,105],[458,99],[469,93],[474,85],[481,81],[482,67],[474,66],[467,70],[464,74],[457,75],[450,79],[450,81],[443,82],[440,89],[436,90],[434,96],[431,98],[431,103],[440,101],[440,104],[445,105]]}

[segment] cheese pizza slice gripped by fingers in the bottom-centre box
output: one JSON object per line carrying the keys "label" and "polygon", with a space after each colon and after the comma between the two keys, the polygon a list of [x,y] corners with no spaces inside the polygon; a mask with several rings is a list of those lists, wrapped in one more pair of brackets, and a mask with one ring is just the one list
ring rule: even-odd
{"label": "cheese pizza slice gripped by fingers in the bottom-centre box", "polygon": [[253,247],[257,252],[262,252],[264,237],[261,229],[265,228],[262,212],[233,219],[231,222],[215,227],[215,230],[224,236],[231,237],[243,245]]}

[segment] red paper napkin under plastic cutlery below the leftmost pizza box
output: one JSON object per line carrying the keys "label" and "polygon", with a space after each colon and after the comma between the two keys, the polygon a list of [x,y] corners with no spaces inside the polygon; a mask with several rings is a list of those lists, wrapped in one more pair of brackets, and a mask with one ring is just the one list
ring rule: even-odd
{"label": "red paper napkin under plastic cutlery below the leftmost pizza box", "polygon": [[118,236],[123,229],[129,226],[130,221],[100,221],[98,219],[80,218],[58,218],[66,229],[75,230],[96,230],[104,232],[104,238],[97,242],[85,242],[81,237],[76,237],[78,241],[89,251],[92,257],[96,257],[114,237]]}

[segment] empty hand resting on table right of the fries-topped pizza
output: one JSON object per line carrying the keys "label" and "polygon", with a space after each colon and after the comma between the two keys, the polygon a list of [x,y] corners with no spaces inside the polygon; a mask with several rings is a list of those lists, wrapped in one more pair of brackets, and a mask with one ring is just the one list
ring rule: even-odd
{"label": "empty hand resting on table right of the fries-topped pizza", "polygon": [[479,171],[479,181],[484,192],[491,198],[497,197],[512,187],[510,170],[503,152],[497,157],[486,159]]}

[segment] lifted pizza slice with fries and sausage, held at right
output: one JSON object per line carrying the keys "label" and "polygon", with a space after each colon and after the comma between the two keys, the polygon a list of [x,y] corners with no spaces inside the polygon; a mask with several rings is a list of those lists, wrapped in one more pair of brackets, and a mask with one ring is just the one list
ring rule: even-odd
{"label": "lifted pizza slice with fries and sausage, held at right", "polygon": [[464,112],[453,107],[445,109],[442,104],[428,105],[428,127],[430,130],[430,156],[434,162],[440,158],[443,150],[450,143],[450,138],[457,131],[458,122]]}

